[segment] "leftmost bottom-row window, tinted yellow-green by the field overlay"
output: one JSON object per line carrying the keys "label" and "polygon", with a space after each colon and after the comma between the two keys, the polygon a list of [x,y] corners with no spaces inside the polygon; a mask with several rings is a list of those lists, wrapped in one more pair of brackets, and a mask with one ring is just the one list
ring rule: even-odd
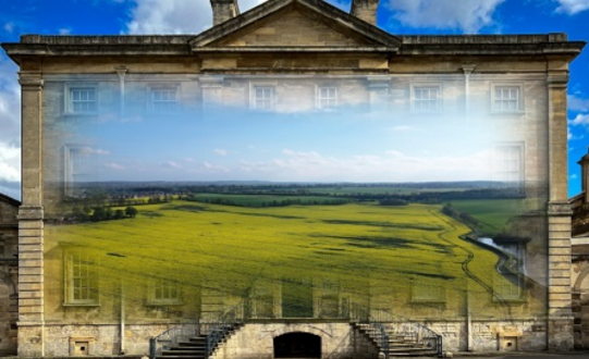
{"label": "leftmost bottom-row window, tinted yellow-green by the field overlay", "polygon": [[65,255],[65,304],[98,305],[98,265],[87,253]]}

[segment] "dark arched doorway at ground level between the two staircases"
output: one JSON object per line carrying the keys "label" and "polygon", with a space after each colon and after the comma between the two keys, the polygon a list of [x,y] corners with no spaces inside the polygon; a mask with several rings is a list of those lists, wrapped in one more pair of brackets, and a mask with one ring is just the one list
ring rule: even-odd
{"label": "dark arched doorway at ground level between the two staircases", "polygon": [[321,337],[303,332],[277,336],[274,358],[321,358]]}

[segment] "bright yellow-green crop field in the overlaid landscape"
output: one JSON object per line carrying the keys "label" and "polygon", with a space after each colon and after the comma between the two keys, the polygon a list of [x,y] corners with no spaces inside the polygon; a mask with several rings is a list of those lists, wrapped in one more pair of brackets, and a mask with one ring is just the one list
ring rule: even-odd
{"label": "bright yellow-green crop field in the overlaid landscape", "polygon": [[138,283],[149,278],[235,296],[259,281],[320,278],[352,295],[378,293],[386,302],[416,284],[464,292],[469,278],[468,290],[484,297],[481,302],[491,300],[494,286],[510,284],[496,275],[498,256],[461,239],[469,230],[440,208],[245,208],[172,200],[142,206],[134,219],[51,226],[46,250],[95,253],[101,280],[126,278],[126,295],[137,298]]}

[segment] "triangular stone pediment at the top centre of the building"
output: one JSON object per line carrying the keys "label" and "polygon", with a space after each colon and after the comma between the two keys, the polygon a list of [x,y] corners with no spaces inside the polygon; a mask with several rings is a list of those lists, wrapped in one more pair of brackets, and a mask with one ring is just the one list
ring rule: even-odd
{"label": "triangular stone pediment at the top centre of the building", "polygon": [[269,0],[191,40],[211,48],[389,48],[401,39],[324,0]]}

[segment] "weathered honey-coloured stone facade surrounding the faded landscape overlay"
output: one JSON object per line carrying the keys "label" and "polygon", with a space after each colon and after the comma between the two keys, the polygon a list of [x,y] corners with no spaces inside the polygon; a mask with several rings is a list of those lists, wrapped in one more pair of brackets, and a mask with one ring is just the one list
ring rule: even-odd
{"label": "weathered honey-coloured stone facade surrounding the faded landscape overlay", "polygon": [[[334,98],[367,113],[425,121],[432,131],[474,126],[474,136],[495,134],[482,144],[515,159],[516,170],[503,175],[523,184],[529,210],[514,230],[532,238],[516,244],[525,247],[519,259],[527,263],[529,298],[511,298],[508,310],[492,296],[424,307],[407,305],[410,293],[400,293],[382,306],[427,322],[446,350],[573,348],[566,89],[568,64],[585,42],[565,34],[395,36],[375,26],[377,0],[354,0],[352,13],[322,0],[269,0],[243,14],[235,0],[211,4],[214,25],[196,36],[26,35],[2,45],[20,66],[22,87],[20,356],[143,355],[169,324],[234,305],[219,292],[182,306],[131,306],[123,295],[69,297],[63,277],[83,267],[85,253],[57,245],[51,228],[83,174],[68,159],[87,151],[88,119],[134,119],[170,103],[203,116],[219,108],[318,111]],[[277,285],[269,284],[270,293],[280,292]],[[326,335],[327,357],[355,335],[339,321],[291,323],[280,320],[280,308],[262,307],[260,300],[259,310],[278,319],[246,324],[219,358],[271,357],[272,337],[290,332]],[[365,345],[354,343],[352,351]]]}

